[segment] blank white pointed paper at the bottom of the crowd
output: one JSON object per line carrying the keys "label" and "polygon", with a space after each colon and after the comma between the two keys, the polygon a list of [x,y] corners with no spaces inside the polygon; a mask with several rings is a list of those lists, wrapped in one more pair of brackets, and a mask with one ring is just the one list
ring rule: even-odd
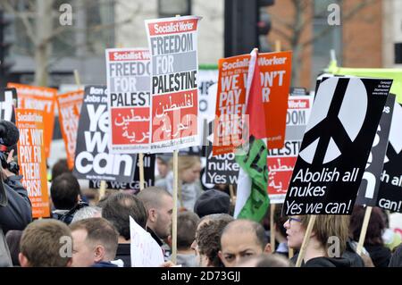
{"label": "blank white pointed paper at the bottom of the crowd", "polygon": [[159,267],[163,264],[163,251],[151,234],[130,217],[131,267]]}

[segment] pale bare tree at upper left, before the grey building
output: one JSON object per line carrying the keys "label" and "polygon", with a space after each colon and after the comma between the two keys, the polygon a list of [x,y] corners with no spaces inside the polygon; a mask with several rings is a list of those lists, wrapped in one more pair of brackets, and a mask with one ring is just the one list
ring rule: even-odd
{"label": "pale bare tree at upper left, before the grey building", "polygon": [[[95,5],[115,4],[119,0],[71,0],[63,1],[66,4],[74,4],[73,13],[82,13],[86,9]],[[33,50],[25,50],[25,54],[32,56],[35,60],[35,85],[46,86],[48,82],[48,68],[51,64],[63,58],[55,57],[52,54],[52,46],[55,40],[64,42],[66,45],[77,46],[77,43],[66,43],[64,38],[67,32],[84,34],[83,42],[78,45],[87,45],[85,34],[96,32],[101,29],[115,29],[116,26],[130,23],[134,15],[141,9],[140,5],[133,9],[129,16],[121,21],[114,21],[108,24],[94,24],[92,26],[76,27],[76,25],[54,24],[59,22],[61,13],[56,7],[59,1],[56,0],[26,0],[23,9],[19,8],[19,1],[1,0],[0,9],[6,13],[13,14],[17,21],[21,21],[23,30],[18,32],[24,33],[29,42],[32,43]],[[81,37],[81,38],[82,38]]]}

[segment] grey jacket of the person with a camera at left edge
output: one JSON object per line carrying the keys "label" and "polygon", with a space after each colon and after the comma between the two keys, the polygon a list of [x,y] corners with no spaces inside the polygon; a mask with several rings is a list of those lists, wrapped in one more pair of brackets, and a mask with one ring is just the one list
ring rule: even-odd
{"label": "grey jacket of the person with a camera at left edge", "polygon": [[[7,205],[0,206],[0,267],[13,266],[10,252],[4,238],[9,230],[24,230],[32,221],[28,192],[21,184],[21,176],[11,176],[4,180],[4,193]],[[0,181],[1,183],[1,181]],[[4,200],[4,197],[0,197]]]}

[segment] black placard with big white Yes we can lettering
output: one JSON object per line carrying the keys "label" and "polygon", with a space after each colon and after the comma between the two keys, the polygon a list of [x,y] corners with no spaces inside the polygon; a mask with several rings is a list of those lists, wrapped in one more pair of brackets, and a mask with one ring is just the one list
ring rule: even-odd
{"label": "black placard with big white Yes we can lettering", "polygon": [[130,182],[137,155],[111,154],[105,86],[87,86],[81,106],[73,174],[79,179]]}

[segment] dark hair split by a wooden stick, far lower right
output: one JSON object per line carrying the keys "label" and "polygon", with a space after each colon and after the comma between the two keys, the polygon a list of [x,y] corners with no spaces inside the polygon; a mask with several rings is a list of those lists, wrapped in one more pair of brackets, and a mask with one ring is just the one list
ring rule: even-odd
{"label": "dark hair split by a wooden stick, far lower right", "polygon": [[[360,231],[364,220],[365,208],[362,205],[356,205],[350,216],[350,235],[352,239],[359,240]],[[382,232],[385,229],[385,221],[381,209],[373,207],[370,221],[365,234],[364,246],[382,246]]]}

